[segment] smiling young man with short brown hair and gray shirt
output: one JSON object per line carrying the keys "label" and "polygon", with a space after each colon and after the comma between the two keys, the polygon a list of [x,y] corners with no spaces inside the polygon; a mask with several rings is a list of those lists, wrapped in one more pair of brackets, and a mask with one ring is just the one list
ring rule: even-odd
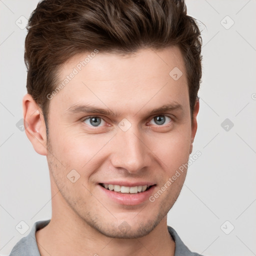
{"label": "smiling young man with short brown hair and gray shirt", "polygon": [[47,158],[52,217],[10,255],[199,255],[167,226],[199,109],[184,2],[44,0],[27,29],[24,125]]}

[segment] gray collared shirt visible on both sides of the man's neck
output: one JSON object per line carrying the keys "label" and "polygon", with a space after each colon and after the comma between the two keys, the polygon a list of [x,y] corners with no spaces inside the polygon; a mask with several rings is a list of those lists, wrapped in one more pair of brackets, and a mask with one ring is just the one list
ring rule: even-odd
{"label": "gray collared shirt visible on both sides of the man's neck", "polygon": [[[38,246],[35,240],[35,232],[50,222],[48,220],[40,220],[33,224],[29,234],[21,238],[15,246],[12,248],[9,256],[40,256]],[[174,256],[202,256],[198,253],[191,252],[186,245],[181,241],[176,231],[167,226],[170,235],[175,241],[175,253]]]}

